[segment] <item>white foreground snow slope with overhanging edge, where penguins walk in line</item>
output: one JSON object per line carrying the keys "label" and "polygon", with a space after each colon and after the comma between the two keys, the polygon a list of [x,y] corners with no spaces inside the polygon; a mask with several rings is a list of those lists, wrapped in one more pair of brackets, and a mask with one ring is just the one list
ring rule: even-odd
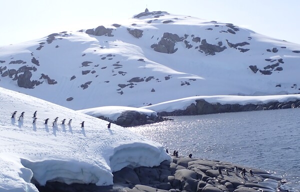
{"label": "white foreground snow slope with overhanging edge, where penguins walk in line", "polygon": [[[110,185],[112,171],[170,159],[162,145],[137,133],[117,125],[107,129],[106,121],[29,95],[0,87],[0,103],[0,191],[37,191],[32,176],[41,185],[47,180]],[[60,124],[63,118],[71,124]]]}

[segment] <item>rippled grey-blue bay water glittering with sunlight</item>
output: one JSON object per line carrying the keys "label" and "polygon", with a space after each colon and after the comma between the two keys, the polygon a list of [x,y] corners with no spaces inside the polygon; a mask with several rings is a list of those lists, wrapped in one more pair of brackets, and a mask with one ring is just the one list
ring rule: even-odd
{"label": "rippled grey-blue bay water glittering with sunlight", "polygon": [[129,129],[181,156],[267,170],[300,191],[300,108],[170,118]]}

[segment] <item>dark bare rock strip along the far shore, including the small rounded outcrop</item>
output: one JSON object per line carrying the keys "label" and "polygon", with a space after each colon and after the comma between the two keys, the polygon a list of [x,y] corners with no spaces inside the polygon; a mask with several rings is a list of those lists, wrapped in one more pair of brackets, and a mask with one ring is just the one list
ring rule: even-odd
{"label": "dark bare rock strip along the far shore, including the small rounded outcrop", "polygon": [[147,115],[134,110],[123,111],[116,120],[111,120],[105,116],[97,116],[102,120],[109,121],[122,127],[138,126],[143,124],[152,124],[156,122],[172,120],[167,116],[180,116],[180,115],[200,115],[200,114],[212,114],[223,112],[241,112],[241,111],[254,111],[254,110],[272,110],[272,109],[284,109],[284,108],[296,108],[300,107],[300,100],[288,101],[288,102],[268,102],[260,104],[220,104],[209,103],[204,99],[195,100],[195,103],[191,103],[184,110],[174,110],[171,112],[161,111],[157,112],[157,115]]}

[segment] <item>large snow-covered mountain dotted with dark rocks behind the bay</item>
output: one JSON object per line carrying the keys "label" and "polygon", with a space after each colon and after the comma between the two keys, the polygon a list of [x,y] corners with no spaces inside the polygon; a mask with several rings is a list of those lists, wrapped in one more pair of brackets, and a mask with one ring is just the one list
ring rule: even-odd
{"label": "large snow-covered mountain dotted with dark rocks behind the bay", "polygon": [[[287,35],[287,34],[286,34]],[[0,47],[0,86],[72,109],[300,92],[300,45],[231,23],[141,12]]]}

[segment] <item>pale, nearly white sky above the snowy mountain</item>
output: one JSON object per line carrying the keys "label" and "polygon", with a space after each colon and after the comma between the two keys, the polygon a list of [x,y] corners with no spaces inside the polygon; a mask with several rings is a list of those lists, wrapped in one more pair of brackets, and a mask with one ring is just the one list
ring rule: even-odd
{"label": "pale, nearly white sky above the snowy mountain", "polygon": [[0,0],[0,46],[120,23],[147,7],[230,22],[300,44],[299,0]]}

